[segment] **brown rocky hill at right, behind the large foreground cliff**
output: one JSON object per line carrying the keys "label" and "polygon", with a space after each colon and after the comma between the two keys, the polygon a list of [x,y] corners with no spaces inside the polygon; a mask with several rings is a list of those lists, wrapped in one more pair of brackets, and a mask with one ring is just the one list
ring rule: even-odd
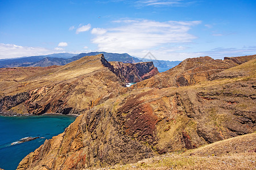
{"label": "brown rocky hill at right, behind the large foreground cliff", "polygon": [[209,80],[210,76],[223,70],[240,65],[254,56],[225,57],[224,60],[210,57],[188,58],[176,67],[158,75],[137,83],[136,87],[180,87],[189,86]]}

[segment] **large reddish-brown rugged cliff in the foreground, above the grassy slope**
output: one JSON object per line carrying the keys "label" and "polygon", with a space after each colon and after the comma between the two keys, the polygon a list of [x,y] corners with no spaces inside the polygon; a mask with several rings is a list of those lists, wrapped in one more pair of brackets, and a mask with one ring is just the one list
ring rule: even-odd
{"label": "large reddish-brown rugged cliff in the foreground, above the grassy slope", "polygon": [[255,62],[253,59],[234,67],[237,74],[243,67],[250,70],[239,78],[179,88],[138,88],[108,99],[27,155],[18,169],[134,163],[152,155],[253,133]]}

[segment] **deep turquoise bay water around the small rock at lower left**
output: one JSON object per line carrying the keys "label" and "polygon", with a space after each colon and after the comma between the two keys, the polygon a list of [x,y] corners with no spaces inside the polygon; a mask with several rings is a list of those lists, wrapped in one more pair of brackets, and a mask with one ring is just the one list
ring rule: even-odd
{"label": "deep turquoise bay water around the small rock at lower left", "polygon": [[[73,121],[75,117],[71,116],[0,116],[0,168],[16,169],[26,155],[42,145],[46,139],[63,133]],[[15,144],[25,137],[39,138]]]}

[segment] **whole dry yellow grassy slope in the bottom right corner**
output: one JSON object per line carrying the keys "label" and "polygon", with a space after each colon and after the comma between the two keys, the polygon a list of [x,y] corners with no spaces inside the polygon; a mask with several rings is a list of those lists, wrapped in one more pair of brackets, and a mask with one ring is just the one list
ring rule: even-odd
{"label": "whole dry yellow grassy slope in the bottom right corner", "polygon": [[256,133],[252,133],[110,169],[255,169],[256,153],[251,152],[255,149]]}

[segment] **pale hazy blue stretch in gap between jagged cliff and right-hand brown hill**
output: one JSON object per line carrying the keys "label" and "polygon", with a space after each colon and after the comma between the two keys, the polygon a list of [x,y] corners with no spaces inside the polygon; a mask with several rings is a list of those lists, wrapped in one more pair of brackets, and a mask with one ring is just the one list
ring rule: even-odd
{"label": "pale hazy blue stretch in gap between jagged cliff and right-hand brown hill", "polygon": [[181,62],[181,61],[168,61],[168,60],[148,59],[148,58],[139,58],[139,57],[137,58],[144,62],[152,61],[154,63],[154,66],[158,68],[171,69],[172,67],[179,65],[179,63]]}

